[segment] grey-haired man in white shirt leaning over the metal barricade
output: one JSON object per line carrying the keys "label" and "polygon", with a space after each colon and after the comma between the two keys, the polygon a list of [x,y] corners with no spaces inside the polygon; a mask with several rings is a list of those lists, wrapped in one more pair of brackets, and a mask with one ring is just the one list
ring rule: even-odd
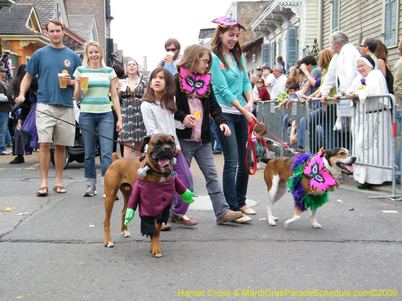
{"label": "grey-haired man in white shirt leaning over the metal barricade", "polygon": [[320,87],[322,93],[320,101],[322,104],[327,105],[325,99],[330,97],[330,90],[335,86],[337,94],[334,96],[334,100],[328,103],[327,111],[330,113],[327,113],[329,117],[324,125],[327,140],[326,149],[342,146],[340,145],[342,137],[335,135],[336,133],[332,131],[337,119],[335,102],[339,102],[339,97],[345,96],[346,90],[357,76],[356,61],[360,57],[360,53],[353,44],[349,43],[349,38],[344,32],[332,33],[330,42],[335,55],[331,59],[324,83]]}

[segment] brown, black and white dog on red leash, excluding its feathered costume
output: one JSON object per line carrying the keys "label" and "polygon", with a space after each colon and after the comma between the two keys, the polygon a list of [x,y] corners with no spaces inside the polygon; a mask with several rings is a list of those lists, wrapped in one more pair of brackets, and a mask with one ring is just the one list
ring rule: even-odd
{"label": "brown, black and white dog on red leash, excluding its feathered costume", "polygon": [[[337,176],[341,171],[347,174],[353,173],[352,164],[356,162],[356,157],[349,154],[349,151],[345,148],[333,148],[325,150],[323,153],[323,161],[325,168],[333,175]],[[275,226],[278,219],[272,215],[272,206],[285,194],[286,182],[289,181],[289,177],[293,176],[292,165],[294,159],[291,157],[281,157],[267,159],[261,156],[257,157],[258,161],[266,163],[264,171],[264,180],[268,188],[268,201],[267,212],[269,225]],[[309,186],[310,179],[304,177],[302,184],[306,195],[321,195],[324,192],[315,192]],[[285,227],[298,221],[300,219],[300,209],[294,207],[294,216],[285,222]],[[311,223],[314,228],[321,228],[321,225],[317,223],[316,211],[312,211]]]}

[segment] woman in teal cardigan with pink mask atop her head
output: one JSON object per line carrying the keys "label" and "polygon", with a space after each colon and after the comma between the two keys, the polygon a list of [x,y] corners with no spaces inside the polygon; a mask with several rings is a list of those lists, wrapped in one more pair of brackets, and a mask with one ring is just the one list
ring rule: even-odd
{"label": "woman in teal cardigan with pink mask atop her head", "polygon": [[[256,214],[246,205],[247,122],[256,118],[251,113],[253,110],[252,86],[239,44],[240,30],[245,29],[232,17],[218,18],[213,22],[217,23],[218,27],[211,43],[212,86],[232,132],[230,136],[225,136],[219,127],[216,127],[225,159],[223,192],[231,210]],[[251,163],[251,153],[247,159]],[[234,187],[236,187],[235,190]],[[251,217],[243,214],[243,217],[234,222],[245,223],[251,220]]]}

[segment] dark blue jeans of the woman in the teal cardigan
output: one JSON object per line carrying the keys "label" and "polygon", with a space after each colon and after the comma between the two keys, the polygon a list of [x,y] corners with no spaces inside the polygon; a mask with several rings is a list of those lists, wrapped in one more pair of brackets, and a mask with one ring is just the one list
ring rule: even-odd
{"label": "dark blue jeans of the woman in the teal cardigan", "polygon": [[[225,165],[223,167],[223,193],[230,210],[240,211],[246,205],[248,173],[246,170],[247,152],[247,119],[243,115],[224,113],[228,126],[232,131],[225,136],[218,125],[215,130],[221,142]],[[247,162],[251,165],[251,152]],[[236,189],[234,189],[236,188]]]}

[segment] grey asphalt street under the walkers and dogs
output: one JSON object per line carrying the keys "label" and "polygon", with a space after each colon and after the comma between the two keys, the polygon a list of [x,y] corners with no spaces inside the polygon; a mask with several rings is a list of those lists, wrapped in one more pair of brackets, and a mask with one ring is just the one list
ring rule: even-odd
{"label": "grey asphalt street under the walkers and dogs", "polygon": [[[223,156],[214,156],[222,179]],[[368,198],[381,192],[336,189],[318,211],[321,229],[310,212],[285,228],[293,216],[286,194],[273,207],[279,221],[272,227],[259,220],[267,217],[267,189],[257,172],[248,183],[252,222],[217,225],[212,210],[190,206],[198,225],[171,223],[160,237],[163,256],[154,258],[138,214],[131,237],[121,236],[123,201],[111,219],[115,247],[104,246],[104,190],[82,197],[83,164],[64,170],[66,194],[52,190],[51,166],[50,192],[37,196],[35,155],[20,165],[9,165],[12,159],[0,161],[0,300],[402,299],[402,202]],[[207,196],[195,162],[191,171],[198,195]]]}

